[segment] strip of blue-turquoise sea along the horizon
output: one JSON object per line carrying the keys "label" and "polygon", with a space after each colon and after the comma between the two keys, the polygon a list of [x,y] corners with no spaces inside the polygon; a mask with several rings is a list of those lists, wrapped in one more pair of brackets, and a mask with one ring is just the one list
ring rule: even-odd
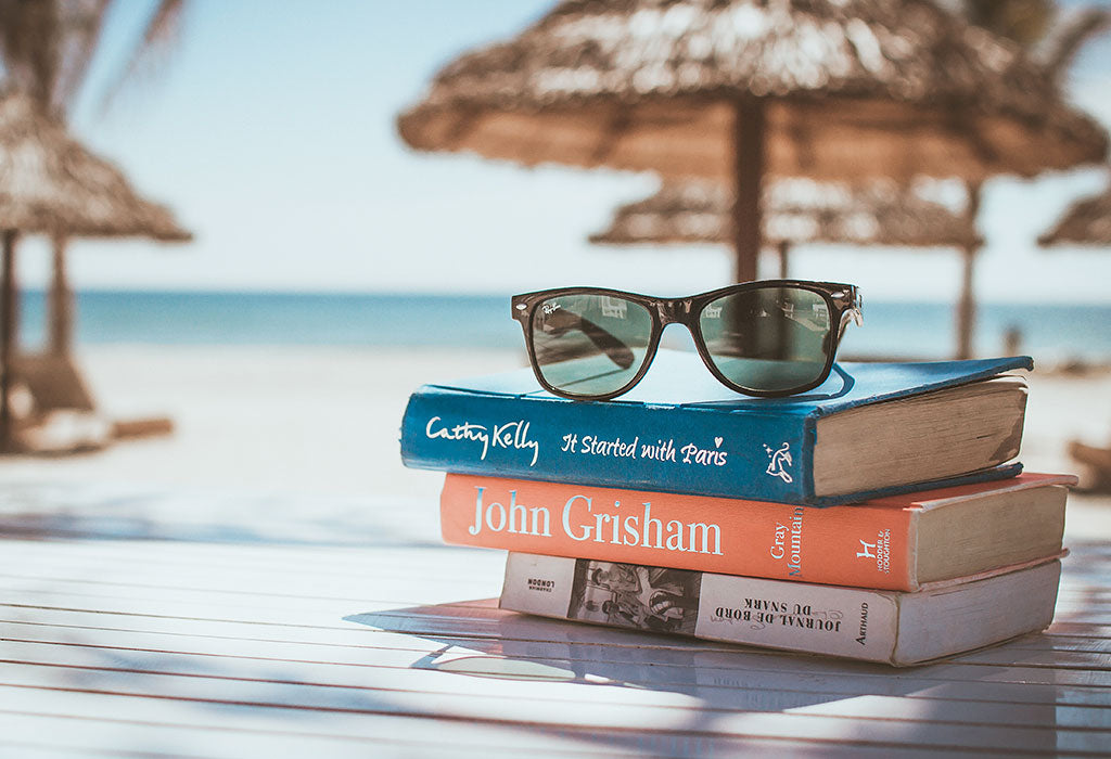
{"label": "strip of blue-turquoise sea along the horizon", "polygon": [[[46,334],[46,296],[24,291],[20,340]],[[682,327],[665,344],[682,347]],[[978,355],[1000,355],[1008,333],[1019,352],[1049,362],[1111,363],[1111,303],[978,306]],[[944,358],[955,345],[950,303],[868,301],[842,356]],[[76,342],[82,345],[260,345],[520,348],[509,294],[259,293],[90,291],[77,295]]]}

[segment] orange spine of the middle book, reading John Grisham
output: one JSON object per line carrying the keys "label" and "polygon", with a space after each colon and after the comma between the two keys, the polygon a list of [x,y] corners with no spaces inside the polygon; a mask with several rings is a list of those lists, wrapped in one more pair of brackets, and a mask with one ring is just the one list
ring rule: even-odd
{"label": "orange spine of the middle book, reading John Grisham", "polygon": [[808,508],[759,500],[449,474],[448,543],[750,575],[915,589],[915,513],[891,506]]}

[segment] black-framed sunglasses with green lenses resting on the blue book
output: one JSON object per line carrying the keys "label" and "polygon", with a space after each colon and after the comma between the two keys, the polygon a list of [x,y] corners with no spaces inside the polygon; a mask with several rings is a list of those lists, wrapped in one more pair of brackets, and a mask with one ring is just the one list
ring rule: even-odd
{"label": "black-framed sunglasses with green lenses resting on the blue book", "polygon": [[563,287],[513,296],[541,386],[579,401],[629,392],[648,372],[663,327],[690,330],[699,355],[738,393],[781,396],[830,374],[850,321],[862,323],[855,285],[762,280],[689,297]]}

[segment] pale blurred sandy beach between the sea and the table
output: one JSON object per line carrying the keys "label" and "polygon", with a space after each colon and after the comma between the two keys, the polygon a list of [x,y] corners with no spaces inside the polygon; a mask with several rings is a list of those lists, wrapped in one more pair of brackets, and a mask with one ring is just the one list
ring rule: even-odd
{"label": "pale blurred sandy beach between the sea and the table", "polygon": [[[407,469],[398,431],[424,382],[526,364],[523,352],[317,347],[86,347],[90,388],[113,418],[164,414],[172,435],[96,453],[11,457],[0,488],[429,500],[442,475]],[[1111,371],[1035,370],[1021,461],[1074,472],[1065,444],[1111,438]],[[384,499],[384,500],[383,500]],[[1111,497],[1073,494],[1073,539],[1111,539]]]}

